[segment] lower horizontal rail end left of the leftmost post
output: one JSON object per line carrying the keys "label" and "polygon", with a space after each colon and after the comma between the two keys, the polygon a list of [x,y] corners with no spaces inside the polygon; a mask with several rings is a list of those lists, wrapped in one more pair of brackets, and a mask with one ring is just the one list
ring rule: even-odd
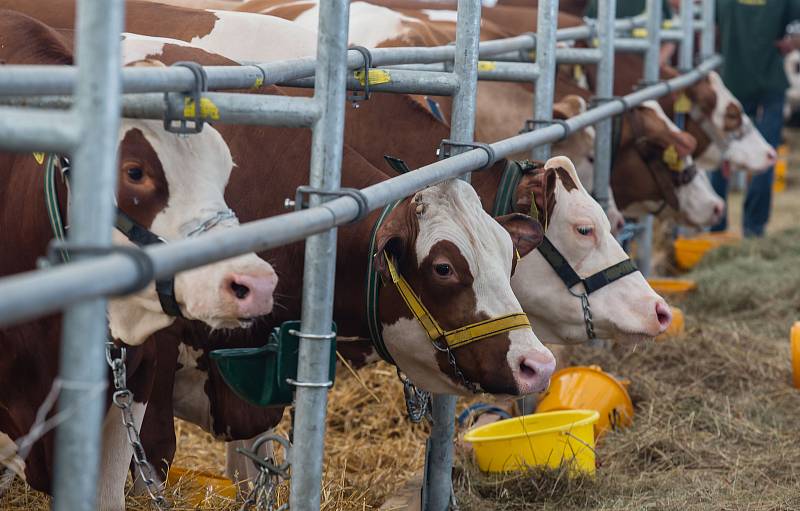
{"label": "lower horizontal rail end left of the leftmost post", "polygon": [[0,149],[71,154],[79,126],[72,112],[0,107]]}

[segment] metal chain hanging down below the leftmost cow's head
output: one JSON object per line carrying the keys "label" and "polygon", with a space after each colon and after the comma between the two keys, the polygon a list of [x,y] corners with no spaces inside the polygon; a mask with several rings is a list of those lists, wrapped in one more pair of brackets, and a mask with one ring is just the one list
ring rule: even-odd
{"label": "metal chain hanging down below the leftmost cow's head", "polygon": [[[118,350],[118,355],[114,355],[114,351]],[[153,465],[147,461],[142,439],[139,437],[139,432],[136,430],[136,422],[133,417],[131,406],[133,405],[133,392],[127,388],[126,382],[126,366],[125,359],[127,351],[123,347],[117,347],[111,341],[106,341],[106,361],[111,367],[111,374],[114,379],[115,392],[111,398],[114,406],[120,409],[122,414],[122,425],[128,433],[128,443],[133,448],[133,463],[136,465],[136,470],[139,477],[145,484],[147,494],[150,501],[156,509],[164,510],[169,509],[169,503],[164,497],[164,492],[161,485],[158,483],[158,477]]]}

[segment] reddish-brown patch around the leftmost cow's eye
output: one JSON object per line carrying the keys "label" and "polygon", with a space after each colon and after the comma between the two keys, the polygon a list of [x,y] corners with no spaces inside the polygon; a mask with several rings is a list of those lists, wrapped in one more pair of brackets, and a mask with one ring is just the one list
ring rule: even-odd
{"label": "reddish-brown patch around the leftmost cow's eye", "polygon": [[[141,179],[135,179],[141,175]],[[167,207],[169,185],[153,146],[138,129],[125,134],[120,144],[119,208],[139,224],[150,227]]]}

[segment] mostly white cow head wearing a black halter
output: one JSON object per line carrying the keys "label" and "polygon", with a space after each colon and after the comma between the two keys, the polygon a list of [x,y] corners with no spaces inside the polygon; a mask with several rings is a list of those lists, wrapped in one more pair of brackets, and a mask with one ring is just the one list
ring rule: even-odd
{"label": "mostly white cow head wearing a black halter", "polygon": [[[581,278],[627,259],[603,209],[583,187],[569,159],[551,158],[544,169],[524,175],[515,200],[518,211],[536,205],[547,239]],[[588,340],[581,300],[573,294],[583,292],[582,284],[567,289],[539,250],[517,263],[511,285],[545,342]],[[590,294],[589,305],[600,338],[635,343],[663,332],[671,321],[669,306],[639,272]]]}

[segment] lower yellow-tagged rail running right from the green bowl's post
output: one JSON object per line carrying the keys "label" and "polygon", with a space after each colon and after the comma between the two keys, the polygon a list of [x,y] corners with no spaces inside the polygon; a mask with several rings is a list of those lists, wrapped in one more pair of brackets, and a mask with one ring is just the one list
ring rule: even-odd
{"label": "lower yellow-tagged rail running right from the green bowl's post", "polygon": [[[374,73],[374,71],[371,71]],[[369,88],[374,92],[398,92],[414,94],[431,94],[450,96],[458,90],[458,80],[452,73],[436,71],[411,71],[407,69],[384,70],[378,83],[371,83]],[[314,87],[314,78],[301,78],[283,85],[291,87]],[[361,91],[364,89],[353,74],[347,78],[347,89]]]}

